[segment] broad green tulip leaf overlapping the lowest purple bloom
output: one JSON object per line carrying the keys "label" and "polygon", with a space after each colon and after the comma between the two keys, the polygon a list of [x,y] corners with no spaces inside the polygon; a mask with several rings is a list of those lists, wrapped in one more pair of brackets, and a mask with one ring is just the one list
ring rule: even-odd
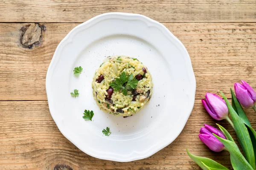
{"label": "broad green tulip leaf overlapping the lowest purple bloom", "polygon": [[234,170],[253,170],[253,167],[246,161],[243,154],[240,152],[239,147],[235,142],[223,139],[213,134],[230,152],[230,160]]}

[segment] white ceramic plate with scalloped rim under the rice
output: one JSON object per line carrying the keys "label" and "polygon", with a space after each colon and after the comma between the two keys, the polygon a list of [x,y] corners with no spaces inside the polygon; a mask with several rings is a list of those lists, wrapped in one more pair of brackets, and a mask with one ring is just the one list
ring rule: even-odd
{"label": "white ceramic plate with scalloped rim under the rice", "polygon": [[[92,95],[93,74],[112,55],[139,59],[154,83],[150,102],[125,119],[101,111]],[[177,138],[192,111],[195,87],[183,44],[157,21],[126,13],[101,14],[76,26],[58,45],[46,77],[49,110],[61,133],[90,156],[121,162],[144,159]],[[76,99],[73,89],[80,93]],[[93,121],[84,121],[85,109],[94,111]],[[110,136],[102,134],[106,127]]]}

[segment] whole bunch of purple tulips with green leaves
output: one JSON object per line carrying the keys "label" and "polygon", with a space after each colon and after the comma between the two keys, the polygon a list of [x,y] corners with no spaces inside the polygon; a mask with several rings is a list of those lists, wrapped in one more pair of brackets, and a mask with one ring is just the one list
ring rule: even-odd
{"label": "whole bunch of purple tulips with green leaves", "polygon": [[[234,170],[256,170],[256,131],[251,126],[242,108],[242,106],[244,108],[253,108],[256,112],[256,92],[247,82],[243,80],[241,82],[242,84],[234,84],[236,95],[230,88],[232,105],[222,92],[220,93],[224,99],[216,94],[206,93],[202,103],[213,119],[226,119],[230,123],[236,132],[244,155],[239,150],[230,133],[221,125],[216,124],[220,129],[218,130],[205,124],[204,127],[201,127],[198,136],[210,150],[215,152],[228,150]],[[229,114],[232,120],[229,118]],[[203,170],[228,170],[227,167],[212,159],[195,156],[189,153],[188,150],[187,153]]]}

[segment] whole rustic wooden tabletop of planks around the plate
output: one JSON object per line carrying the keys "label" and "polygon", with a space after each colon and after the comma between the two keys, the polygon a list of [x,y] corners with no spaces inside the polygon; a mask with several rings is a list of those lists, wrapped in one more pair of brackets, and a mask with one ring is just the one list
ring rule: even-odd
{"label": "whole rustic wooden tabletop of planks around the plate", "polygon": [[[199,170],[186,154],[231,168],[229,153],[210,151],[199,139],[205,92],[230,98],[233,82],[256,88],[255,0],[0,0],[0,170]],[[153,156],[126,163],[81,152],[58,130],[45,91],[58,43],[91,17],[140,13],[163,23],[186,46],[197,80],[195,106],[180,136]],[[256,113],[246,110],[256,127]],[[179,114],[179,113],[177,113]],[[226,121],[219,124],[235,136]],[[66,166],[67,165],[67,166]]]}

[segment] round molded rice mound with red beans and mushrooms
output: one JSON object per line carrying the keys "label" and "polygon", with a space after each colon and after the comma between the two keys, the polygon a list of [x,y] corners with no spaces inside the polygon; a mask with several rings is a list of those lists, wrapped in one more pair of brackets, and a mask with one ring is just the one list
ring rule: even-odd
{"label": "round molded rice mound with red beans and mushrooms", "polygon": [[[124,72],[127,76],[133,74],[137,79],[137,86],[128,89],[125,96],[109,84]],[[125,85],[125,84],[124,84]],[[138,59],[127,56],[107,57],[96,70],[93,77],[93,96],[97,105],[113,115],[123,117],[131,116],[140,111],[149,101],[152,95],[152,77],[147,67]]]}

